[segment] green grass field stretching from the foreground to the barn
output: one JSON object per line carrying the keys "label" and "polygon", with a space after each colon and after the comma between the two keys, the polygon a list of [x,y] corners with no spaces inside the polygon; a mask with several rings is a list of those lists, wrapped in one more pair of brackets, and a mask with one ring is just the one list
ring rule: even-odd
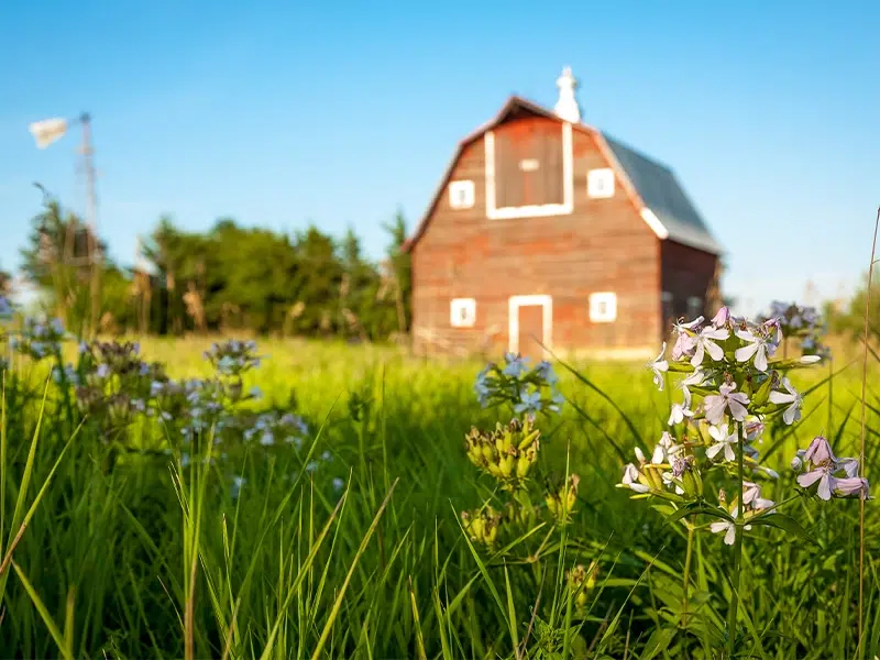
{"label": "green grass field stretching from the foreground to the barn", "polygon": [[[141,353],[194,377],[210,372],[208,344],[144,340]],[[530,476],[538,494],[547,477],[580,476],[571,521],[505,519],[485,547],[463,532],[461,512],[501,510],[505,495],[469,461],[464,438],[512,413],[477,404],[482,364],[317,342],[257,352],[266,358],[245,389],[262,398],[243,407],[297,413],[309,429],[301,446],[205,442],[184,457],[154,418],[112,432],[80,425],[45,380],[50,360],[7,372],[0,657],[727,657],[732,548],[615,487],[634,448],[649,452],[668,428],[680,397],[671,374],[658,392],[641,364],[578,364],[581,377],[557,364],[566,402],[538,418]],[[792,375],[802,392],[818,386],[803,419],[770,425],[759,448],[781,475],[765,488],[776,502],[795,493],[789,462],[814,435],[858,455],[861,372],[844,369],[848,358],[842,349],[831,367]],[[871,362],[869,480],[880,431]],[[810,540],[770,527],[746,537],[737,656],[873,658],[873,502],[861,613],[859,502],[804,497],[789,513]],[[578,565],[588,574],[580,583]]]}

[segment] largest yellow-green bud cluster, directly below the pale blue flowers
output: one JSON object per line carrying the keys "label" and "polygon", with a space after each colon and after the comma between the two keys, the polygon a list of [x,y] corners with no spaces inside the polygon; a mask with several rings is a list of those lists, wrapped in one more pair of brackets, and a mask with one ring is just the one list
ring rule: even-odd
{"label": "largest yellow-green bud cluster, directly below the pale blue flowers", "polygon": [[506,426],[497,422],[490,432],[472,427],[464,438],[468,458],[505,490],[515,490],[538,460],[541,433],[532,425],[534,419],[526,416],[524,421],[514,418]]}

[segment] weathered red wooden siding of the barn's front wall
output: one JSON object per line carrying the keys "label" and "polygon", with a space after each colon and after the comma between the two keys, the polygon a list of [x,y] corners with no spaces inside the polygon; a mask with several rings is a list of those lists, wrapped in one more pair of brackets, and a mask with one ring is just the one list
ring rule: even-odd
{"label": "weathered red wooden siding of the barn's front wall", "polygon": [[[517,133],[538,136],[528,144],[540,145],[534,148],[540,148],[537,153],[546,160],[554,153],[546,136],[561,136],[560,125],[547,118],[515,119],[494,129],[496,146]],[[504,351],[508,299],[535,294],[552,296],[554,350],[656,352],[661,333],[660,241],[619,182],[612,198],[587,197],[587,172],[608,163],[592,133],[574,130],[572,138],[574,212],[554,217],[487,219],[484,141],[477,138],[463,148],[450,180],[474,182],[474,206],[451,209],[444,189],[413,249],[417,352],[428,349],[427,336],[468,351],[480,350],[491,337],[492,352]],[[504,147],[496,150],[496,160],[499,154],[513,161],[505,163],[505,173],[513,172],[522,157],[516,152],[512,157]],[[561,200],[561,189],[546,187],[541,195],[550,201],[558,195]],[[503,206],[502,199],[497,205]],[[588,296],[597,292],[617,295],[614,322],[590,320]],[[450,324],[450,301],[459,297],[476,300],[473,328]]]}

